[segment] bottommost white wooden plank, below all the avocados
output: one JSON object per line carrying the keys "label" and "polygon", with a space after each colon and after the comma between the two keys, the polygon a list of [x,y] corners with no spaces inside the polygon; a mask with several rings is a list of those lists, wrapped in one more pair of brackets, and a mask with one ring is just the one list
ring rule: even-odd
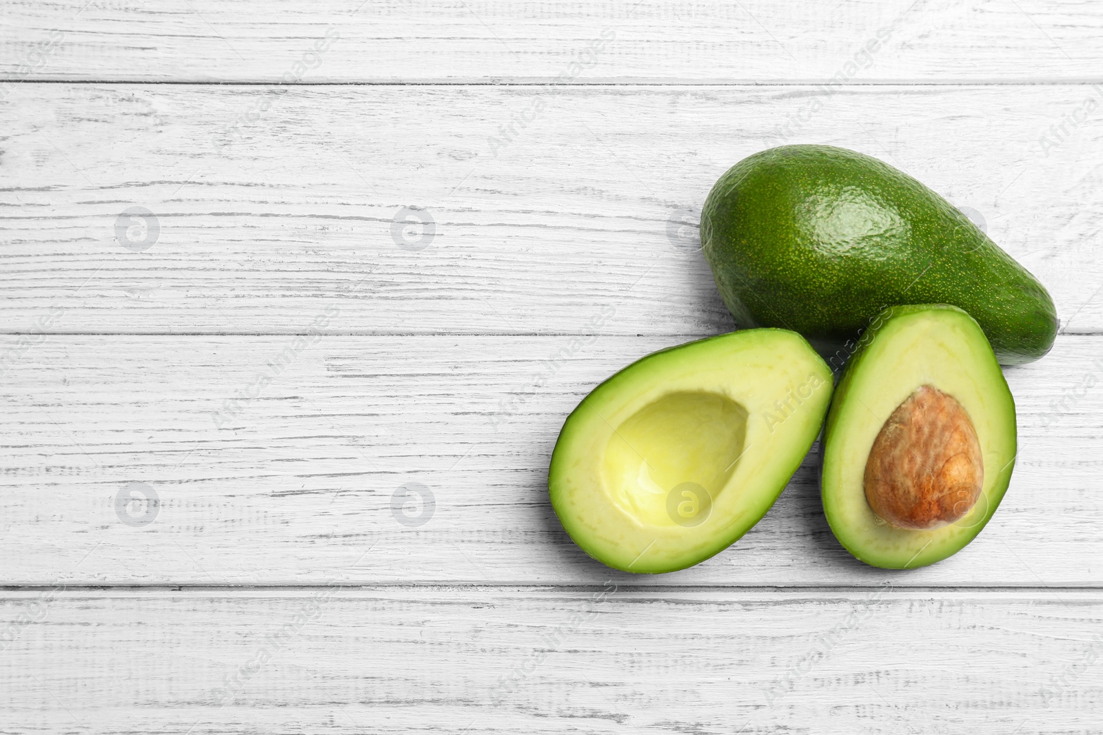
{"label": "bottommost white wooden plank, below all the avocados", "polygon": [[2,593],[8,732],[1062,733],[1099,591]]}

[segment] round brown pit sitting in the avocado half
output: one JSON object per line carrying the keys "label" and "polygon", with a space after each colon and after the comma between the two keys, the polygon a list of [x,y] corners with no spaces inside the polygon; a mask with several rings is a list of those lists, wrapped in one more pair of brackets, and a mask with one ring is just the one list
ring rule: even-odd
{"label": "round brown pit sitting in the avocado half", "polygon": [[921,386],[881,426],[866,462],[866,500],[897,528],[964,517],[981,496],[984,461],[973,422],[952,396]]}

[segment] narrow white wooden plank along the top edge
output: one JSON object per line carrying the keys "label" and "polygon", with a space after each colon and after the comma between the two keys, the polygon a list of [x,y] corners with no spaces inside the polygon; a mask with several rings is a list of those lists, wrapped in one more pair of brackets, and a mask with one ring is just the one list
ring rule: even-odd
{"label": "narrow white wooden plank along the top edge", "polygon": [[945,83],[1097,79],[1103,61],[1088,0],[63,0],[7,20],[8,79]]}

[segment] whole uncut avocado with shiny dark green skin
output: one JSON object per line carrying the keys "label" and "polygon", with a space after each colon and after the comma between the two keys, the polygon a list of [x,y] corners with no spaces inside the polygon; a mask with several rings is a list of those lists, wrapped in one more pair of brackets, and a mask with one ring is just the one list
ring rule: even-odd
{"label": "whole uncut avocado with shiny dark green skin", "polygon": [[965,310],[1004,365],[1040,358],[1057,336],[1038,279],[919,181],[845,148],[743,159],[709,192],[700,239],[738,327],[799,332],[835,368],[897,304]]}

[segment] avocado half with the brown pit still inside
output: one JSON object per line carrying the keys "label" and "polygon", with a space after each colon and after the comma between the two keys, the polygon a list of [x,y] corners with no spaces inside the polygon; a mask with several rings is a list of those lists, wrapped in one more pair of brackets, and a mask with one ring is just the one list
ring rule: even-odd
{"label": "avocado half with the brown pit still inside", "polygon": [[824,514],[867,564],[933,564],[996,512],[1015,453],[1015,400],[977,322],[944,304],[890,306],[832,400]]}

